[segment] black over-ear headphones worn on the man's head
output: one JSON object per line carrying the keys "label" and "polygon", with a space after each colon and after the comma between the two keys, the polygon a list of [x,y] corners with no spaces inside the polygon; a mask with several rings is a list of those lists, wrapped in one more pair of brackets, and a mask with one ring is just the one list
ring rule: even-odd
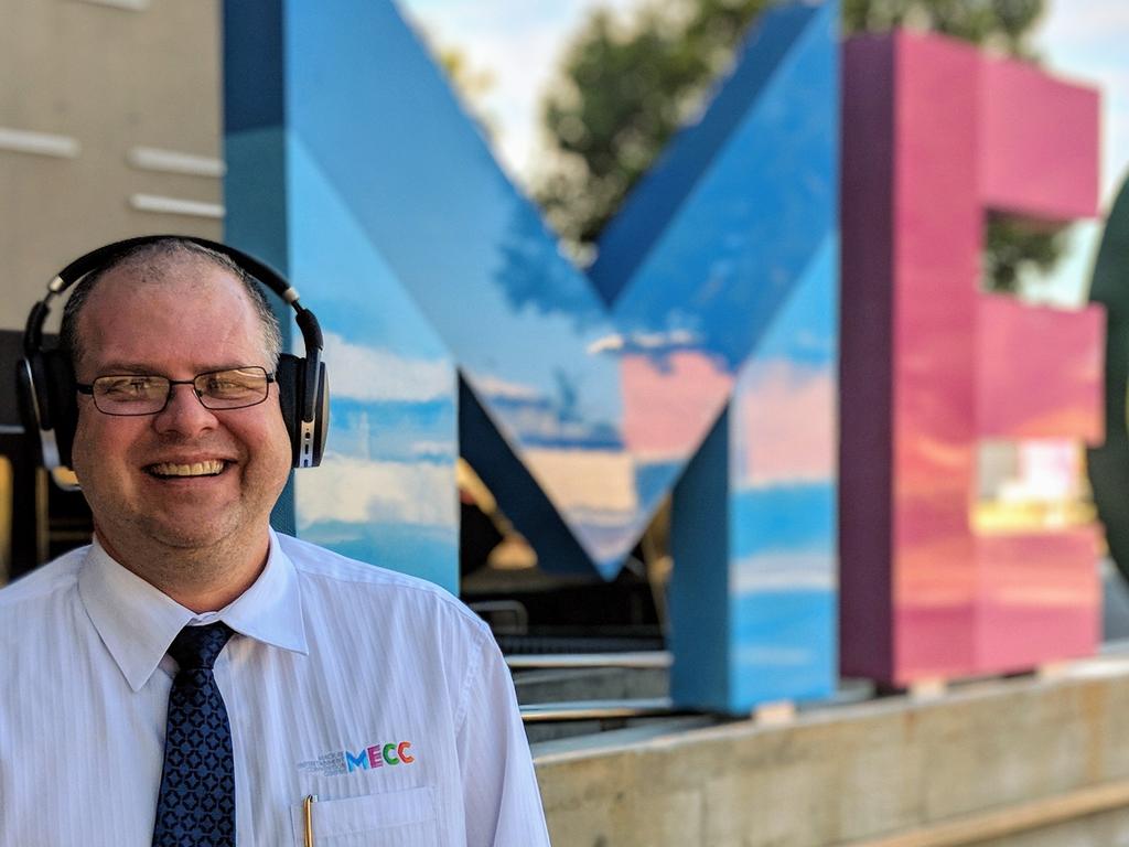
{"label": "black over-ear headphones worn on the man's head", "polygon": [[298,303],[298,292],[269,265],[226,244],[184,235],[149,235],[107,244],[79,256],[47,283],[47,295],[35,304],[24,331],[24,358],[16,368],[20,410],[28,433],[38,434],[43,464],[47,470],[69,468],[75,430],[78,426],[75,370],[70,351],[43,349],[43,324],[51,311],[51,299],[88,273],[111,265],[128,251],[173,238],[192,242],[230,259],[239,269],[286,300],[295,311],[301,331],[305,358],[289,353],[279,357],[274,381],[279,386],[282,420],[290,434],[291,462],[295,468],[314,468],[322,461],[329,430],[330,392],[322,363],[322,329],[314,313]]}

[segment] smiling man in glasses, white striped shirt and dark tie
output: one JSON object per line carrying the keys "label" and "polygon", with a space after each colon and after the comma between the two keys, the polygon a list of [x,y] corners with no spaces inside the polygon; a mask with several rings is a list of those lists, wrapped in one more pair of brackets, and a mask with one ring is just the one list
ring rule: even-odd
{"label": "smiling man in glasses, white striped shirt and dark tie", "polygon": [[481,621],[270,530],[279,333],[240,276],[161,241],[67,305],[95,536],[0,592],[0,844],[548,844]]}

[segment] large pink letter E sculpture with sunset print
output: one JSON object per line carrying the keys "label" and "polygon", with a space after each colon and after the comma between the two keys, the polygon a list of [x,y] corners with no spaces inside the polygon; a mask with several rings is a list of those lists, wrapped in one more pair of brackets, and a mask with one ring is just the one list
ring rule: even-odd
{"label": "large pink letter E sculpture with sunset print", "polygon": [[1095,212],[1096,94],[909,33],[850,41],[844,73],[843,670],[905,684],[1091,653],[1095,527],[972,516],[982,438],[1101,437],[1101,314],[978,292],[989,210]]}

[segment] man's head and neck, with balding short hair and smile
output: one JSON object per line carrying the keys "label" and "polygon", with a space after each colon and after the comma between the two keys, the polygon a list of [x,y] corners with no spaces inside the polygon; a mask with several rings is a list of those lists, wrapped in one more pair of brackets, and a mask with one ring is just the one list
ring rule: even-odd
{"label": "man's head and neck, with balding short hair and smile", "polygon": [[[75,472],[98,541],[181,605],[205,611],[262,570],[290,439],[265,379],[280,347],[265,304],[256,311],[236,269],[189,255],[142,253],[107,270],[70,300],[63,337],[85,394]],[[195,396],[198,374],[240,367],[262,374],[262,393],[248,392],[262,402],[209,409]],[[151,403],[130,396],[147,375],[160,377]]]}

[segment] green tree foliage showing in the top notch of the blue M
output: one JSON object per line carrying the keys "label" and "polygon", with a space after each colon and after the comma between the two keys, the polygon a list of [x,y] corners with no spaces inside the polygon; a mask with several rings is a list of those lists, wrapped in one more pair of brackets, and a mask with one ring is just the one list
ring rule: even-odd
{"label": "green tree foliage showing in the top notch of the blue M", "polygon": [[596,239],[767,6],[650,0],[630,21],[589,17],[543,106],[554,150],[535,193],[566,239]]}

